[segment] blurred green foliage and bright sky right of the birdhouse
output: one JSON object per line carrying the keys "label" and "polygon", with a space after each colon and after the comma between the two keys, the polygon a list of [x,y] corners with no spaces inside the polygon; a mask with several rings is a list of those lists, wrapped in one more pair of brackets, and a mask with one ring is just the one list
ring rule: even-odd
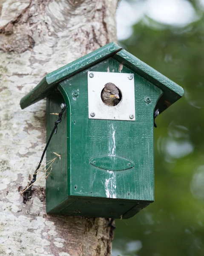
{"label": "blurred green foliage and bright sky right of the birdhouse", "polygon": [[204,0],[121,0],[118,41],[184,88],[156,119],[155,202],[116,220],[112,256],[204,256]]}

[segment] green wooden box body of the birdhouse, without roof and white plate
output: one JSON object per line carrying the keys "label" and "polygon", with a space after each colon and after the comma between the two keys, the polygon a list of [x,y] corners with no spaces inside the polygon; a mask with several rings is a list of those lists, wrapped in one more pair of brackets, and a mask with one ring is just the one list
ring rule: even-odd
{"label": "green wooden box body of the birdhouse, without roof and white plate", "polygon": [[[136,121],[89,119],[87,71],[107,70],[133,73],[125,66],[121,70],[118,61],[108,58],[58,85],[68,106],[67,135],[58,139],[60,143],[57,139],[51,140],[47,160],[52,157],[57,143],[63,152],[67,143],[67,162],[62,164],[65,161],[62,157],[53,165],[52,173],[46,180],[49,213],[107,218],[121,218],[123,215],[123,218],[129,218],[139,211],[135,206],[139,204],[143,208],[154,201],[153,113],[162,91],[135,73]],[[72,96],[75,90],[79,93],[78,97]],[[151,98],[149,104],[144,101],[147,96]],[[52,100],[49,100],[49,112],[56,112],[59,108],[58,97],[53,93]],[[54,122],[51,118],[49,116],[48,126]],[[65,119],[59,125],[58,132],[61,125],[64,127],[64,122]],[[110,156],[113,147],[116,157],[130,160],[135,165],[114,172],[90,163],[95,157]],[[58,151],[61,152],[61,149],[58,148]]]}

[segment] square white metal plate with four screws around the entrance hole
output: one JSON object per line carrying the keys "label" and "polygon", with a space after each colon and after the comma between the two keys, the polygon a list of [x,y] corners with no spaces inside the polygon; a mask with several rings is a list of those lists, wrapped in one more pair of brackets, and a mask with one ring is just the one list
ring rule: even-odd
{"label": "square white metal plate with four screws around the entrance hole", "polygon": [[[89,75],[93,73],[91,78]],[[133,79],[129,80],[132,75]],[[116,106],[108,106],[101,99],[105,84],[113,83],[121,90],[122,99]],[[134,74],[88,71],[89,119],[110,119],[135,121],[135,83]],[[95,113],[95,116],[91,116]],[[134,115],[134,118],[130,118]]]}

